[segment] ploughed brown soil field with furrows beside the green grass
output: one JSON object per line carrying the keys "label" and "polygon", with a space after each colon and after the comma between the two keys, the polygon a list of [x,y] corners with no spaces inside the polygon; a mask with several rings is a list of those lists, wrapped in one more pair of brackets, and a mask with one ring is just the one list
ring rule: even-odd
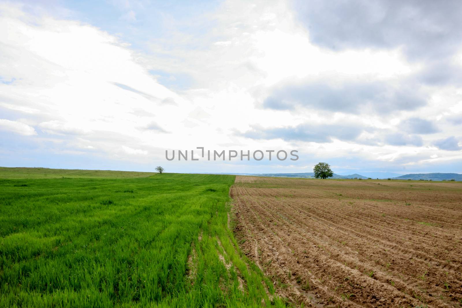
{"label": "ploughed brown soil field with furrows beside the green grass", "polygon": [[462,184],[237,176],[241,248],[305,307],[462,307]]}

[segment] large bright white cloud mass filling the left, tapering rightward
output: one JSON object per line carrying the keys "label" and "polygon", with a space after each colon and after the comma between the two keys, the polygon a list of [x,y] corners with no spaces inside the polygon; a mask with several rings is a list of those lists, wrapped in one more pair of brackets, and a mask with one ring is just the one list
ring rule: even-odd
{"label": "large bright white cloud mass filling the left, tapering rightward", "polygon": [[[0,4],[0,108],[34,121],[45,133],[87,135],[95,148],[108,132],[139,144],[173,146],[171,137],[140,133],[156,122],[169,132],[194,110],[188,100],[160,85],[139,54],[115,36],[78,21],[36,17],[21,6]],[[6,120],[5,120],[6,121]],[[10,121],[11,122],[11,121]],[[4,122],[23,134],[25,124]],[[178,133],[178,135],[182,135]]]}

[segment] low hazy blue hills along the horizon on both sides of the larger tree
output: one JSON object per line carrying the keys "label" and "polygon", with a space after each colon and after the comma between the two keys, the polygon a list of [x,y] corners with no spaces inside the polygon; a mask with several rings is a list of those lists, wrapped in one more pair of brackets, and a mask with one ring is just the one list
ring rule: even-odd
{"label": "low hazy blue hills along the horizon on both sides of the larger tree", "polygon": [[[273,177],[298,177],[298,178],[314,178],[314,172],[300,172],[300,173],[209,173],[209,174],[231,174],[231,175],[253,175],[253,176],[273,176]],[[391,172],[367,172],[365,173],[369,175],[369,177],[376,179],[386,179],[391,178],[393,180],[432,180],[432,181],[449,181],[454,179],[456,181],[462,181],[462,174],[458,173],[417,173],[417,174],[407,174],[407,175],[400,175],[392,177],[392,175],[397,175],[396,173]],[[378,175],[378,176],[374,176]],[[387,176],[388,175],[388,176]],[[329,179],[368,179],[369,177],[364,175],[359,175],[357,173],[352,175],[338,175],[334,173]]]}

